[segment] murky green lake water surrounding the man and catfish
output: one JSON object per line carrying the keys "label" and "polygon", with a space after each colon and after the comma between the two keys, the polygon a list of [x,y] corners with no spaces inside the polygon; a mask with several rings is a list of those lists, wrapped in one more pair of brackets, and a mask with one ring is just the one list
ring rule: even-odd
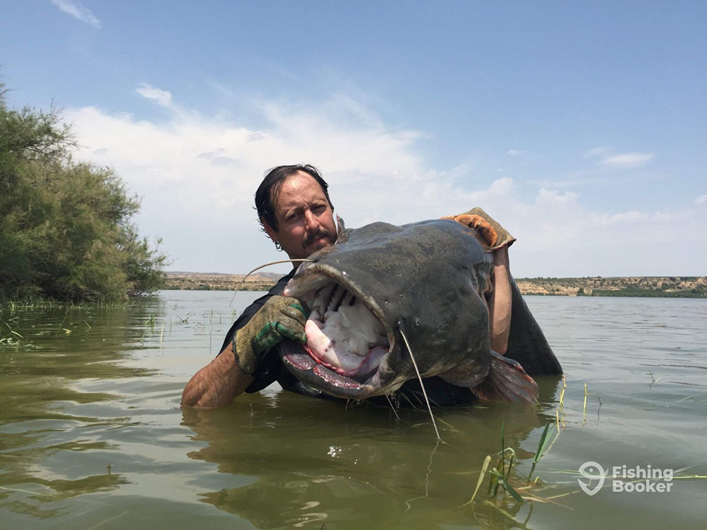
{"label": "murky green lake water surrounding the man and catfish", "polygon": [[[184,384],[233,322],[232,293],[167,291],[128,308],[3,310],[3,528],[696,528],[707,480],[669,493],[590,496],[576,471],[649,464],[707,475],[707,301],[528,298],[567,375],[538,407],[425,411],[315,401],[276,388],[216,411],[182,411]],[[257,293],[239,293],[241,310]],[[12,329],[16,334],[11,334]],[[14,343],[15,339],[19,343]],[[651,375],[652,373],[652,375]],[[655,382],[653,382],[655,380]],[[590,394],[583,413],[584,384]],[[598,398],[597,398],[598,396]],[[525,485],[544,425],[544,485],[522,504],[488,478],[506,446]],[[587,481],[586,479],[583,479]],[[597,484],[592,481],[590,485]]]}

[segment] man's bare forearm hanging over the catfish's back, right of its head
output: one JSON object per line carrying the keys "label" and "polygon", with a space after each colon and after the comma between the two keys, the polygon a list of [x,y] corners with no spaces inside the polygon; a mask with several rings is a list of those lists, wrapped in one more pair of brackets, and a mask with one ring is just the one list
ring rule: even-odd
{"label": "man's bare forearm hanging over the catfish's back, right of its head", "polygon": [[510,310],[513,293],[510,290],[508,247],[493,252],[493,293],[489,299],[489,324],[491,327],[491,349],[506,355],[510,334]]}

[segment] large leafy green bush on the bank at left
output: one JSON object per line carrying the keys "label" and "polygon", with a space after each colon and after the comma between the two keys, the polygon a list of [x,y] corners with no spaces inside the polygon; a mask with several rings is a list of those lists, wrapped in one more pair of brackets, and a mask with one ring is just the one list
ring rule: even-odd
{"label": "large leafy green bush on the bank at left", "polygon": [[115,301],[165,281],[113,170],[76,163],[59,112],[14,110],[0,83],[0,300]]}

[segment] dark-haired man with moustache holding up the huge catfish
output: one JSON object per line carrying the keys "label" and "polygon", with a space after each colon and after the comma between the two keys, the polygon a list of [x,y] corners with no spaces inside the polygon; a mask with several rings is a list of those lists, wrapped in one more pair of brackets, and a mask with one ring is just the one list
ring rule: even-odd
{"label": "dark-haired man with moustache holding up the huge catfish", "polygon": [[[336,240],[334,206],[329,199],[328,185],[311,165],[284,165],[270,170],[255,193],[255,205],[264,232],[290,259],[305,259]],[[508,243],[493,254],[494,289],[488,301],[491,348],[501,355],[506,351],[510,329],[508,245],[513,242],[505,230],[503,233]],[[282,296],[298,262],[293,261],[293,266],[291,273],[236,320],[221,352],[187,383],[182,406],[226,406],[243,391],[258,391],[275,380],[284,389],[300,394],[314,392],[286,372],[275,355],[269,355],[271,348],[285,338],[307,341],[304,330],[307,309],[298,300]],[[469,397],[463,391],[467,389],[452,387],[438,378],[428,381],[440,394],[437,401],[457,403]],[[409,382],[411,391],[415,391],[417,384]]]}

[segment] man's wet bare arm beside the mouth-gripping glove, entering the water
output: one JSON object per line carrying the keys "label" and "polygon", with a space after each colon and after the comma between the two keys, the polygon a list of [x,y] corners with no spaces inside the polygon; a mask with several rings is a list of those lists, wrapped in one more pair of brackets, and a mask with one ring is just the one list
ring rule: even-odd
{"label": "man's wet bare arm beside the mouth-gripping glove, entering the water", "polygon": [[189,380],[182,392],[182,406],[217,408],[233,403],[253,381],[245,375],[233,356],[233,344],[221,352]]}

